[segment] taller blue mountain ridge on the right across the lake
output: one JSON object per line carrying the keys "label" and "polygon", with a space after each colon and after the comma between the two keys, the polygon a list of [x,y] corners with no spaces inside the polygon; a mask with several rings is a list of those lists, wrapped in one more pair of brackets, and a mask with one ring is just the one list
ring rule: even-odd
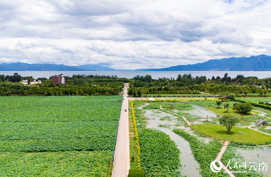
{"label": "taller blue mountain ridge on the right across the lake", "polygon": [[231,57],[145,71],[271,71],[271,57],[267,55]]}

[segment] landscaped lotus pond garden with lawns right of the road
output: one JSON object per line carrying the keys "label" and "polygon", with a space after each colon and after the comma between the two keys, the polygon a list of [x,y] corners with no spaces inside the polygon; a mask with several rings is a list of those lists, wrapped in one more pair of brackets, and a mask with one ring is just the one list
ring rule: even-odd
{"label": "landscaped lotus pond garden with lawns right of the road", "polygon": [[[155,98],[156,101],[133,101],[139,137],[138,142],[140,145],[140,168],[144,170],[145,176],[167,176],[166,173],[171,173],[172,175],[170,176],[228,176],[222,171],[213,173],[210,170],[210,163],[216,159],[224,140],[229,141],[230,145],[223,155],[222,161],[226,163],[226,161],[231,160],[230,164],[232,164],[232,166],[234,165],[233,162],[237,161],[236,157],[239,151],[245,151],[242,151],[243,156],[238,157],[239,160],[243,160],[246,154],[250,152],[249,150],[256,153],[260,148],[253,146],[271,144],[271,136],[262,133],[267,132],[267,130],[260,130],[261,127],[257,127],[255,129],[262,131],[258,132],[245,128],[250,126],[253,128],[255,122],[261,119],[269,122],[268,116],[271,115],[269,110],[260,107],[250,107],[238,101],[221,101],[220,108],[218,109],[218,99],[185,99],[186,98]],[[224,106],[226,104],[227,106]],[[174,106],[173,109],[171,109],[170,105]],[[243,111],[247,108],[251,108],[250,111]],[[208,115],[208,117],[206,117],[206,115]],[[238,119],[238,123],[230,129],[230,132],[228,132],[226,126],[219,125],[223,115],[233,116],[234,119]],[[198,121],[206,120],[207,118],[210,121]],[[188,122],[192,125],[188,125]],[[267,124],[267,126],[269,126],[269,124]],[[240,134],[239,131],[241,131],[242,134]],[[145,136],[148,135],[147,132],[152,132],[150,135],[161,132],[160,134],[164,135],[164,139],[168,139],[169,137],[168,140],[172,141],[173,144],[170,143],[171,145],[167,145],[165,142],[161,143],[163,144],[163,148],[168,146],[168,149],[173,148],[174,144],[176,145],[175,147],[177,147],[180,152],[178,158],[179,167],[174,167],[173,164],[171,166],[174,168],[162,167],[155,163],[157,160],[155,160],[155,158],[152,159],[152,157],[156,156],[156,149],[161,149],[160,146],[156,145],[155,141],[162,137],[159,137],[159,135],[151,138],[150,136],[147,142],[145,141]],[[146,148],[145,145],[148,145],[148,150],[144,149]],[[248,152],[246,152],[246,150]],[[264,150],[262,153],[269,153],[268,148]],[[192,155],[190,157],[188,157],[189,155],[186,157],[183,156],[184,154],[187,155],[190,153]],[[167,162],[166,164],[172,162],[171,158],[177,158],[177,155],[174,156],[171,152],[168,152],[167,148],[163,150],[163,154],[160,154],[160,156]],[[171,158],[169,158],[169,156]],[[152,160],[155,161],[152,162]],[[176,159],[175,163],[177,163]],[[195,165],[196,168],[188,170],[187,166],[191,167],[192,164]],[[157,170],[157,173],[153,173],[154,169],[162,168],[166,168],[168,171]],[[237,177],[263,177],[269,175],[269,173],[248,172],[247,174],[235,175]]]}

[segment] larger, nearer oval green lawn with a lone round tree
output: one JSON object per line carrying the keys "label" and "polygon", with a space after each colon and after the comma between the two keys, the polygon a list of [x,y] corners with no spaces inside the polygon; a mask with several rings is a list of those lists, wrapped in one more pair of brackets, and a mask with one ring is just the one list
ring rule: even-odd
{"label": "larger, nearer oval green lawn with a lone round tree", "polygon": [[[243,143],[248,142],[257,144],[271,140],[271,136],[265,135],[255,130],[240,127],[233,127],[231,129],[231,133],[229,133],[227,128],[222,125],[198,124],[191,125],[190,127],[198,132],[201,132],[207,136],[217,138],[219,140],[237,141]],[[242,134],[239,134],[239,131],[242,131]]]}

